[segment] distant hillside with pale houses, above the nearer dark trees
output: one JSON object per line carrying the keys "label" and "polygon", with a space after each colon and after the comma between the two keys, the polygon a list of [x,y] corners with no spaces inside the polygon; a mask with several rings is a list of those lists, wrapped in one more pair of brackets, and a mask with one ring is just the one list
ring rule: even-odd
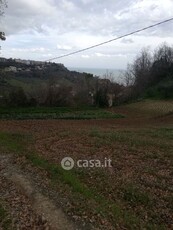
{"label": "distant hillside with pale houses, above the nearer dark trees", "polygon": [[[87,74],[69,71],[63,64],[0,58],[0,87],[23,87],[30,92],[49,81],[75,87]],[[92,75],[91,75],[92,76]]]}

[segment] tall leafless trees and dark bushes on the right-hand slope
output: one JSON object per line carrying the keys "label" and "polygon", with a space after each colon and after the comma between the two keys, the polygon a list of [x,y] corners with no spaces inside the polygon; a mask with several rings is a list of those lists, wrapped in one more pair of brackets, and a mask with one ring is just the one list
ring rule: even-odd
{"label": "tall leafless trees and dark bushes on the right-hand slope", "polygon": [[[159,99],[173,98],[173,47],[162,44],[153,55],[149,50],[142,50],[134,63],[128,65],[125,81],[127,89],[131,83],[136,98],[143,95]],[[126,97],[131,99],[131,91]]]}

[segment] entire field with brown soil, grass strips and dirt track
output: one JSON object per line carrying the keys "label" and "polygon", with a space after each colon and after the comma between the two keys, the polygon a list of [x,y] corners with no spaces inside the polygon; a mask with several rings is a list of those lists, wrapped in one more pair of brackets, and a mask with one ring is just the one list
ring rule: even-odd
{"label": "entire field with brown soil, grass strips and dirt track", "polygon": [[[0,229],[173,229],[173,101],[63,109],[65,120],[57,110],[7,113]],[[66,156],[112,167],[65,171]]]}

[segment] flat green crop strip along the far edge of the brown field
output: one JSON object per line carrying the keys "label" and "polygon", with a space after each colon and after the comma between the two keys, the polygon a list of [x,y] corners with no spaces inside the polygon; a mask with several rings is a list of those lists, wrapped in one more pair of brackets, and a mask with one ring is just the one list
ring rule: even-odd
{"label": "flat green crop strip along the far edge of the brown field", "polygon": [[0,108],[0,119],[114,119],[123,118],[122,114],[112,113],[94,107],[26,107]]}

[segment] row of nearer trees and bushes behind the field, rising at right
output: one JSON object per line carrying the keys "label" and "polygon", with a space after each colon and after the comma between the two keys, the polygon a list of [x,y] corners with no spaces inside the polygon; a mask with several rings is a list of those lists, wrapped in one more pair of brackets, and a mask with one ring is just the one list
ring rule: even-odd
{"label": "row of nearer trees and bushes behind the field, rising at right", "polygon": [[[72,72],[73,73],[73,72]],[[1,74],[2,75],[2,74]],[[81,106],[110,107],[139,98],[173,98],[173,47],[160,45],[154,52],[144,48],[129,64],[124,74],[124,85],[113,80],[111,73],[104,79],[92,74],[68,76],[73,85],[57,84],[58,73],[43,87],[26,93],[21,87],[9,87],[0,98],[7,106]],[[1,76],[3,85],[6,76]]]}

